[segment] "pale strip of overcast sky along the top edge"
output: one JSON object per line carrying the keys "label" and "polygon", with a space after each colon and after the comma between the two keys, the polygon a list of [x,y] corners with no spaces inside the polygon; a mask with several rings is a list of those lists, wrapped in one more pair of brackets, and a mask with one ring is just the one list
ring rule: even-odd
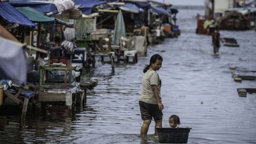
{"label": "pale strip of overcast sky along the top edge", "polygon": [[205,0],[154,0],[175,5],[204,5]]}

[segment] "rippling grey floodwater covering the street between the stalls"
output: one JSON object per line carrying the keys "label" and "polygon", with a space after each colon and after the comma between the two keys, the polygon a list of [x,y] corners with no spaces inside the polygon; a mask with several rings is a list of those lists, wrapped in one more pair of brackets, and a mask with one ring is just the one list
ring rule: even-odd
{"label": "rippling grey floodwater covering the street between the stalls", "polygon": [[[109,63],[96,58],[96,68],[82,81],[99,85],[87,93],[87,108],[74,117],[67,109],[52,106],[45,116],[31,116],[25,126],[19,117],[7,116],[0,126],[0,144],[155,144],[155,122],[146,139],[139,137],[142,120],[138,97],[143,68],[151,55],[163,57],[158,74],[165,106],[163,127],[169,116],[180,117],[181,127],[191,127],[189,143],[255,144],[256,95],[239,97],[237,88],[256,88],[256,81],[234,82],[230,66],[256,70],[256,31],[220,31],[221,37],[237,39],[240,47],[221,45],[213,54],[211,37],[197,35],[196,14],[203,7],[180,7],[181,35],[148,47],[146,57],[136,64],[116,64],[111,75]],[[202,104],[201,104],[202,103]],[[7,120],[6,120],[7,121]]]}

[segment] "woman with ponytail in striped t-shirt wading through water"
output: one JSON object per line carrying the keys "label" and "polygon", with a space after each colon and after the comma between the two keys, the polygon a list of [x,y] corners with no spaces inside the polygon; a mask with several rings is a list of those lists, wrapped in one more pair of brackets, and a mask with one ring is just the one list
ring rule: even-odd
{"label": "woman with ponytail in striped t-shirt wading through water", "polygon": [[[155,127],[162,127],[162,117],[164,105],[160,97],[161,80],[156,71],[162,67],[163,58],[159,54],[154,54],[150,58],[149,65],[146,65],[142,78],[142,92],[139,97],[139,104],[143,124],[141,136],[146,136],[152,117]],[[155,129],[155,135],[157,131]]]}

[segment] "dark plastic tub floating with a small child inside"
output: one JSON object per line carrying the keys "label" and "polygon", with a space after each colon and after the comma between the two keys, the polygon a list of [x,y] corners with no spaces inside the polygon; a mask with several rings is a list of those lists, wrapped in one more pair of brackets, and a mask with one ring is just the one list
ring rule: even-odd
{"label": "dark plastic tub floating with a small child inside", "polygon": [[191,128],[156,128],[159,143],[187,143]]}

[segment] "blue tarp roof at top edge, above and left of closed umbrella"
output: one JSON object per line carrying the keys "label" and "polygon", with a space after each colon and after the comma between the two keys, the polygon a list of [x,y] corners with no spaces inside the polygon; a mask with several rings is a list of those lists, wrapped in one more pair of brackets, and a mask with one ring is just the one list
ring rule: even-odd
{"label": "blue tarp roof at top edge, above and left of closed umbrella", "polygon": [[91,14],[91,10],[93,7],[105,4],[106,1],[100,1],[100,0],[74,0],[75,5],[82,4],[79,7],[79,10],[82,11],[82,14]]}

